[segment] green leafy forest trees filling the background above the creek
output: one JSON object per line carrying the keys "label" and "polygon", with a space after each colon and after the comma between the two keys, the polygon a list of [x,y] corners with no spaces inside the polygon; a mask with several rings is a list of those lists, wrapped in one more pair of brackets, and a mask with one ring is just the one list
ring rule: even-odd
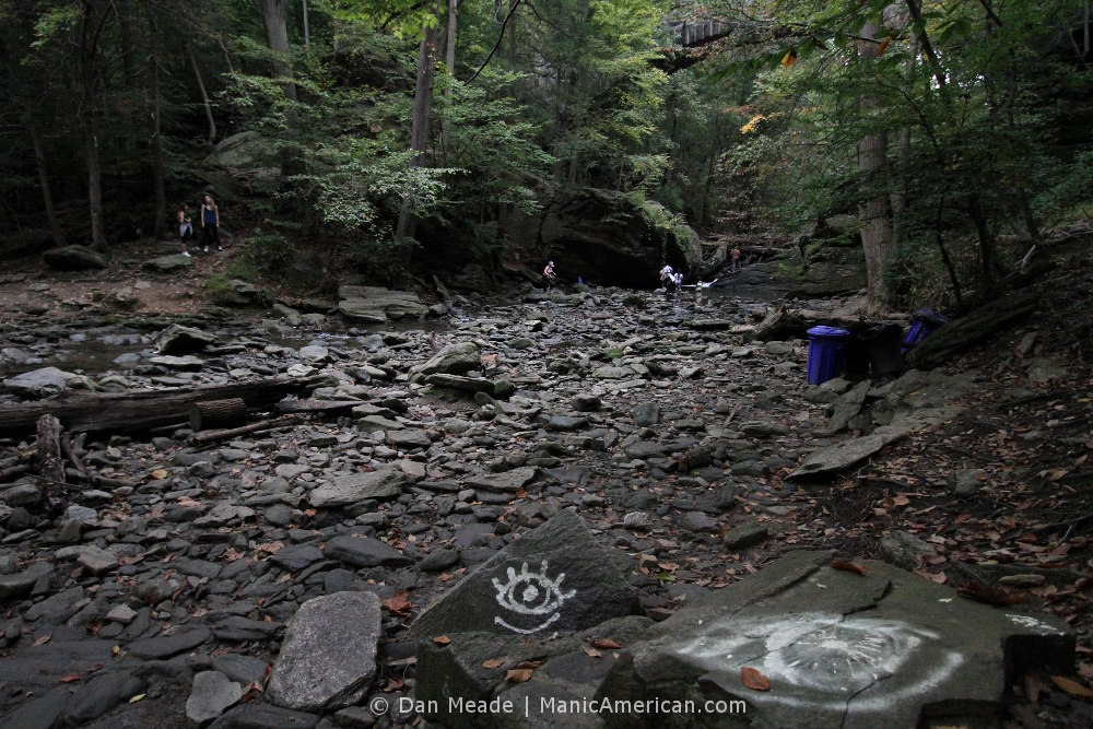
{"label": "green leafy forest trees filling the background above the creek", "polygon": [[802,249],[849,216],[874,305],[961,305],[997,289],[1001,240],[1090,213],[1090,15],[1077,0],[0,0],[0,248],[169,239],[208,191],[270,270],[317,246],[397,281],[496,269],[599,196]]}

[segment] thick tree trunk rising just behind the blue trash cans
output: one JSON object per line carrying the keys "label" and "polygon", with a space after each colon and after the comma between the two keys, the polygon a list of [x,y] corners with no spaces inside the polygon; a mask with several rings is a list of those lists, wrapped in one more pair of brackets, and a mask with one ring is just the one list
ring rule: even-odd
{"label": "thick tree trunk rising just behind the blue trash cans", "polygon": [[[875,58],[875,44],[871,43],[878,26],[869,22],[861,30],[865,38],[858,45],[858,58],[866,64]],[[868,109],[874,102],[859,99]],[[884,283],[884,263],[895,251],[892,217],[888,195],[884,193],[884,173],[888,167],[888,134],[867,134],[858,142],[858,173],[861,177],[861,197],[858,202],[858,222],[861,228],[861,247],[866,254],[866,294],[869,307],[880,308],[888,298]]]}

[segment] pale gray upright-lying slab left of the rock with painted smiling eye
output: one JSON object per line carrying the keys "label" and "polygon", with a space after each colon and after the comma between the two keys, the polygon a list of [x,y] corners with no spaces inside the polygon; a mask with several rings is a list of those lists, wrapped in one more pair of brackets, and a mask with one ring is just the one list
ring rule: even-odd
{"label": "pale gray upright-lying slab left of the rock with painted smiling eye", "polygon": [[374,592],[308,600],[292,620],[270,674],[270,699],[285,708],[330,712],[364,697],[376,675],[381,631]]}

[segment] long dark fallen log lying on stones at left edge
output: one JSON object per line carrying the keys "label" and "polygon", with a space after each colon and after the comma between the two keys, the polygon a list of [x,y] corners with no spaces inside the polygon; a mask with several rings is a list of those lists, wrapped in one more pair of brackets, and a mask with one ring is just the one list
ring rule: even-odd
{"label": "long dark fallen log lying on stones at left edge", "polygon": [[71,395],[64,398],[0,405],[0,437],[34,432],[43,415],[54,415],[69,432],[145,433],[186,422],[196,402],[239,398],[248,410],[269,410],[289,395],[298,395],[307,380],[262,379],[212,387],[171,388],[142,392]]}

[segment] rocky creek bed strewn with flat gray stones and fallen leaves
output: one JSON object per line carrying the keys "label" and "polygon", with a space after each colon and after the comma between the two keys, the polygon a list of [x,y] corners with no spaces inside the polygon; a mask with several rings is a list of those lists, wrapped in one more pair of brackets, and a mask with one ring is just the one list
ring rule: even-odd
{"label": "rocky creek bed strewn with flat gray stones and fallen leaves", "polygon": [[[3,404],[58,389],[260,377],[306,383],[308,399],[356,402],[203,445],[186,427],[78,436],[77,458],[113,485],[68,486],[56,518],[44,515],[48,484],[39,479],[0,484],[4,726],[368,727],[419,715],[484,726],[481,716],[415,702],[455,693],[451,685],[475,699],[536,691],[633,699],[653,691],[650,677],[665,665],[714,685],[709,696],[740,690],[766,717],[756,726],[806,726],[781,713],[787,704],[771,703],[776,677],[762,696],[702,678],[712,654],[694,647],[705,637],[687,622],[692,611],[712,611],[704,620],[716,625],[719,650],[786,631],[842,631],[832,640],[845,643],[847,631],[865,630],[891,640],[880,650],[898,652],[912,642],[961,643],[961,615],[990,624],[983,615],[1044,608],[1056,618],[984,628],[992,647],[967,662],[987,665],[989,675],[953,668],[954,681],[975,690],[931,698],[951,709],[938,721],[1089,721],[1089,701],[1074,686],[1024,674],[1038,666],[1059,675],[1089,670],[1088,366],[1060,358],[1066,345],[1051,325],[1030,319],[1006,341],[1020,346],[1038,331],[1046,350],[1029,343],[1002,362],[987,355],[944,372],[807,386],[806,341],[750,339],[765,314],[761,303],[729,297],[591,290],[483,301],[444,331],[353,330],[298,346],[273,321],[246,333],[207,322],[219,341],[185,355],[153,349],[156,332],[85,331],[129,338],[118,343],[131,351],[104,373],[50,373],[38,396],[21,380]],[[33,357],[56,341],[15,326],[5,346]],[[1018,415],[999,422],[1007,403]],[[1033,437],[1045,430],[1046,452]],[[33,446],[30,434],[4,442],[0,471],[15,473]],[[527,542],[531,551],[520,553],[528,539],[545,543]],[[836,553],[791,554],[800,549]],[[834,557],[844,563],[832,572]],[[559,640],[540,639],[530,623],[516,626],[516,638],[491,632],[490,610],[506,595],[504,564],[510,602],[520,602],[517,585],[525,601],[540,591],[559,602],[598,597],[584,600],[584,622],[566,625]],[[477,572],[483,565],[496,572]],[[869,581],[843,586],[855,568]],[[538,588],[528,590],[533,579]],[[437,599],[465,583],[477,591],[440,608]],[[823,599],[794,591],[806,584],[835,589]],[[742,585],[774,602],[741,598]],[[1014,601],[1022,590],[1027,602],[968,600],[990,590]],[[893,621],[916,612],[900,602],[912,593],[935,607],[955,601],[957,618],[939,615],[906,637]],[[889,622],[832,627],[871,605]],[[729,635],[724,615],[741,610],[753,627]],[[776,610],[804,613],[803,622],[764,623]],[[431,616],[419,623],[423,614]],[[666,643],[674,646],[668,654]],[[939,665],[953,660],[939,655]],[[755,665],[766,677],[778,670]],[[855,690],[878,683],[885,666]],[[925,670],[914,661],[891,668]],[[690,685],[668,694],[690,695]],[[847,702],[836,704],[808,726],[850,726]],[[919,704],[896,704],[886,714],[870,705],[863,716],[920,720]],[[705,721],[738,726],[726,716]]]}

